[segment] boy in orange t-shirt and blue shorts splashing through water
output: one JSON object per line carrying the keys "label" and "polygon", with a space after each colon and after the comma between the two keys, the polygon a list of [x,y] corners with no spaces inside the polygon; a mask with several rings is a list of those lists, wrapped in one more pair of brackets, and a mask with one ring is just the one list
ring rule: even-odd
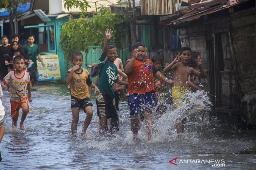
{"label": "boy in orange t-shirt and blue shorts splashing through water", "polygon": [[132,47],[132,59],[126,61],[124,73],[128,77],[128,104],[131,117],[133,139],[137,138],[140,114],[144,114],[148,140],[151,141],[153,110],[155,109],[154,76],[164,82],[173,83],[157,71],[151,60],[145,59],[146,50],[142,43],[135,43]]}

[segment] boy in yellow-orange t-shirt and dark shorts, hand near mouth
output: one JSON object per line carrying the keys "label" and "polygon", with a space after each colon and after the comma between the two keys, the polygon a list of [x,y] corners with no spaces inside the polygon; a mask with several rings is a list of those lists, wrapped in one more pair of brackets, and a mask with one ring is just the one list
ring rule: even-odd
{"label": "boy in yellow-orange t-shirt and dark shorts, hand near mouth", "polygon": [[67,73],[66,83],[70,83],[71,89],[71,110],[72,110],[72,124],[71,131],[73,137],[77,134],[77,125],[79,120],[79,111],[83,109],[86,112],[85,123],[83,124],[82,135],[85,139],[89,139],[86,134],[93,117],[93,104],[90,101],[89,88],[95,88],[99,93],[99,89],[92,83],[87,69],[81,68],[83,64],[83,55],[81,52],[73,52],[71,54],[71,62],[74,67],[70,68]]}

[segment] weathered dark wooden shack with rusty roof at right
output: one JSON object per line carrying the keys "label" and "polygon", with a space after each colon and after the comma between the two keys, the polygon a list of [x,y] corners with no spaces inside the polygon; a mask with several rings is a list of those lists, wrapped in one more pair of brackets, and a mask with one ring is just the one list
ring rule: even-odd
{"label": "weathered dark wooden shack with rusty roof at right", "polygon": [[211,94],[214,111],[256,126],[255,0],[189,5],[188,13],[162,22],[180,29],[180,40],[201,53],[207,74],[201,83]]}

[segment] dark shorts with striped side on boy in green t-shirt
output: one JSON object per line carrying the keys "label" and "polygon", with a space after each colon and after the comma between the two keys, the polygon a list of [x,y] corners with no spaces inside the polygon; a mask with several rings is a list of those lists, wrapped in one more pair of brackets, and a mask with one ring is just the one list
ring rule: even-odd
{"label": "dark shorts with striped side on boy in green t-shirt", "polygon": [[118,111],[115,98],[111,98],[110,95],[102,93],[100,93],[100,96],[100,98],[96,99],[98,116],[116,119],[118,117]]}

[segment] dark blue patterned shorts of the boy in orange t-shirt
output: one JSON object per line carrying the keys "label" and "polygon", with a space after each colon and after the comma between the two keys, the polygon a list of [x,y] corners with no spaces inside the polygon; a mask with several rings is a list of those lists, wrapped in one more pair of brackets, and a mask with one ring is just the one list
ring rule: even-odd
{"label": "dark blue patterned shorts of the boy in orange t-shirt", "polygon": [[143,113],[144,110],[152,112],[155,107],[155,94],[153,91],[145,94],[134,93],[128,96],[128,105],[130,116],[135,116],[138,113]]}

